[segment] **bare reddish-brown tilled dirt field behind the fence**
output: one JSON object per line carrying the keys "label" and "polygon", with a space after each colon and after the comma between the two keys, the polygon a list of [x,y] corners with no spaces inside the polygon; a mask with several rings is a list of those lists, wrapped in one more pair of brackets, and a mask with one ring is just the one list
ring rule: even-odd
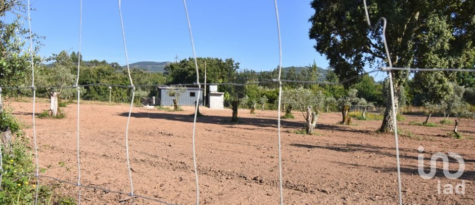
{"label": "bare reddish-brown tilled dirt field behind the fence", "polygon": [[[7,103],[8,104],[8,103]],[[9,102],[14,114],[31,124],[32,104]],[[48,109],[37,103],[37,113]],[[37,119],[40,166],[46,175],[76,183],[76,105],[62,108],[67,119]],[[192,164],[192,108],[183,112],[134,107],[130,123],[130,158],[135,194],[174,204],[195,202]],[[279,203],[277,113],[240,110],[241,123],[231,123],[231,110],[201,108],[196,152],[200,204],[275,205]],[[125,158],[126,105],[81,105],[81,173],[84,185],[130,192]],[[380,121],[357,121],[338,125],[338,113],[325,113],[316,135],[295,134],[303,126],[301,114],[283,120],[282,157],[285,204],[396,205],[397,177],[394,136],[376,130]],[[425,117],[405,116],[399,128],[403,201],[407,205],[475,204],[475,121],[463,120],[459,131],[465,139],[444,137],[453,125],[409,125]],[[32,136],[32,128],[26,133]],[[436,152],[455,152],[465,160],[458,179],[443,174],[442,163],[432,179],[418,174],[417,148],[424,146],[426,171]],[[450,160],[450,170],[458,170]],[[437,193],[440,181],[441,194]],[[444,194],[447,183],[465,183],[465,194]],[[57,183],[46,178],[41,183]],[[64,184],[60,191],[77,197],[77,188]],[[84,190],[83,204],[131,204],[126,195]],[[159,204],[142,199],[135,204]]]}

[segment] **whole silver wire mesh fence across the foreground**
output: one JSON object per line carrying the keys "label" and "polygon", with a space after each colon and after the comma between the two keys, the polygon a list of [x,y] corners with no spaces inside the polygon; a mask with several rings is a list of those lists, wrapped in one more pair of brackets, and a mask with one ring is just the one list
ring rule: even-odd
{"label": "whole silver wire mesh fence across the foreground", "polygon": [[[419,72],[427,72],[427,71],[451,71],[451,72],[475,72],[475,69],[417,69],[417,68],[393,68],[392,67],[392,63],[391,63],[391,59],[390,59],[390,55],[389,55],[389,49],[387,47],[387,44],[386,44],[386,41],[385,41],[385,29],[386,29],[386,19],[384,17],[381,17],[378,22],[376,23],[375,26],[372,26],[370,20],[369,20],[369,13],[368,13],[368,10],[367,10],[367,6],[366,6],[366,0],[363,1],[364,2],[364,6],[365,6],[365,12],[366,12],[366,19],[368,20],[368,26],[372,29],[378,29],[378,27],[380,26],[381,22],[382,22],[382,41],[384,43],[384,49],[386,51],[386,57],[387,57],[387,63],[388,63],[388,66],[387,67],[380,67],[380,69],[376,69],[376,70],[373,70],[373,71],[370,71],[370,72],[365,72],[365,73],[362,73],[360,75],[356,75],[356,76],[353,76],[351,78],[348,78],[347,80],[345,81],[341,81],[341,82],[322,82],[322,81],[293,81],[293,80],[283,80],[281,79],[281,74],[282,74],[282,46],[281,46],[281,38],[280,38],[280,24],[279,24],[279,12],[278,12],[278,6],[277,6],[277,0],[274,0],[274,6],[275,6],[275,12],[276,12],[276,19],[277,19],[277,32],[278,32],[278,37],[279,37],[279,76],[277,79],[272,79],[272,81],[256,81],[256,82],[243,82],[243,83],[240,83],[240,82],[223,82],[223,83],[201,83],[199,82],[199,74],[198,74],[198,65],[197,65],[197,62],[196,62],[196,54],[195,54],[195,51],[194,51],[194,42],[193,42],[193,36],[192,36],[192,33],[191,33],[191,26],[190,26],[190,18],[188,16],[188,8],[187,8],[187,5],[186,5],[186,0],[183,0],[183,3],[184,3],[184,8],[185,8],[185,14],[187,16],[187,23],[188,23],[188,28],[189,28],[189,32],[190,32],[190,41],[191,41],[191,48],[192,48],[192,51],[193,51],[193,57],[194,57],[194,60],[195,60],[195,67],[196,67],[196,75],[197,75],[197,79],[196,79],[196,82],[194,83],[184,83],[184,84],[172,84],[172,85],[183,85],[183,86],[198,86],[200,87],[201,85],[236,85],[236,86],[243,86],[243,85],[247,85],[247,84],[259,84],[259,83],[275,83],[279,86],[279,104],[278,104],[278,111],[277,111],[277,116],[278,116],[278,120],[277,120],[277,123],[278,123],[278,136],[277,136],[277,143],[278,143],[278,167],[279,167],[279,191],[280,191],[280,195],[279,195],[279,201],[280,201],[280,204],[283,205],[284,204],[284,193],[283,193],[283,185],[282,185],[282,152],[281,152],[281,100],[282,100],[282,83],[283,82],[294,82],[294,83],[310,83],[310,84],[343,84],[343,83],[346,83],[346,82],[349,82],[349,81],[352,81],[354,79],[357,79],[361,76],[364,76],[364,75],[369,75],[371,73],[374,73],[374,72],[387,72],[388,74],[388,79],[389,79],[389,91],[390,91],[390,94],[391,94],[391,103],[392,103],[392,112],[393,112],[393,127],[394,127],[394,139],[395,139],[395,150],[396,150],[396,164],[397,164],[397,182],[398,182],[398,204],[399,205],[402,205],[403,203],[403,199],[402,199],[402,192],[401,192],[401,187],[402,187],[402,183],[401,183],[401,174],[400,174],[400,160],[399,160],[399,146],[398,146],[398,133],[397,133],[397,121],[396,121],[396,109],[395,109],[395,105],[394,105],[394,87],[393,87],[393,80],[392,80],[392,71],[394,70],[405,70],[405,71],[419,71]],[[30,9],[29,9],[29,6],[30,6],[30,1],[28,0],[28,24],[29,24],[29,30],[30,30],[30,36],[31,36],[31,22],[30,22]],[[35,101],[36,101],[36,89],[37,88],[59,88],[59,87],[49,87],[49,86],[36,86],[35,85],[35,77],[34,77],[34,64],[33,64],[33,58],[31,59],[31,69],[32,69],[32,84],[31,86],[26,86],[26,87],[8,87],[8,86],[5,86],[5,87],[0,87],[0,97],[1,97],[1,90],[2,89],[32,89],[33,91],[33,115],[32,115],[32,118],[33,118],[33,140],[34,140],[34,151],[35,151],[35,164],[36,164],[36,173],[34,174],[31,174],[31,176],[34,176],[35,178],[37,178],[37,188],[36,188],[36,196],[35,196],[35,205],[38,204],[38,189],[39,189],[39,184],[40,184],[40,181],[41,181],[41,178],[48,178],[48,179],[52,179],[52,180],[55,180],[55,181],[58,181],[58,182],[62,182],[62,183],[65,183],[65,184],[69,184],[69,185],[72,185],[72,186],[76,186],[76,187],[79,187],[79,188],[85,188],[85,189],[97,189],[97,190],[102,190],[102,191],[105,191],[105,192],[110,192],[110,193],[117,193],[117,194],[121,194],[121,195],[128,195],[131,197],[132,200],[134,200],[135,198],[141,198],[141,199],[144,199],[144,200],[148,200],[148,201],[153,201],[153,202],[159,202],[159,203],[162,203],[162,204],[166,204],[166,205],[170,205],[170,203],[168,202],[165,202],[163,200],[159,200],[157,198],[150,198],[150,197],[146,197],[146,196],[141,196],[141,195],[137,195],[134,193],[134,182],[133,182],[133,175],[132,175],[132,172],[131,172],[131,168],[130,168],[130,159],[129,159],[129,146],[128,146],[128,134],[129,134],[129,123],[130,123],[130,118],[131,118],[131,114],[132,114],[132,108],[133,108],[133,103],[134,103],[134,97],[135,97],[135,90],[137,87],[156,87],[156,86],[165,86],[165,85],[159,85],[159,84],[142,84],[142,85],[135,85],[133,84],[133,81],[132,81],[132,78],[130,76],[130,68],[129,68],[129,63],[128,63],[128,55],[127,55],[127,46],[126,46],[126,38],[125,38],[125,31],[124,31],[124,26],[123,26],[123,23],[122,23],[122,12],[121,12],[121,0],[119,0],[119,16],[120,16],[120,22],[121,22],[121,29],[122,29],[122,37],[123,37],[123,44],[124,44],[124,53],[125,53],[125,58],[126,58],[126,66],[127,66],[127,71],[128,71],[128,77],[129,77],[129,80],[130,80],[130,85],[117,85],[117,84],[107,84],[107,83],[94,83],[94,84],[78,84],[79,82],[79,68],[80,68],[80,61],[78,60],[78,76],[77,76],[77,79],[76,79],[76,83],[74,85],[70,85],[70,86],[64,86],[62,88],[77,88],[78,89],[78,100],[77,100],[77,168],[78,168],[78,176],[77,176],[77,182],[70,182],[70,181],[67,181],[67,180],[63,180],[63,179],[58,179],[56,177],[52,177],[52,176],[47,176],[47,175],[40,175],[39,174],[39,156],[38,156],[38,142],[37,142],[37,134],[36,134],[36,123],[35,123]],[[82,0],[80,0],[80,23],[79,23],[79,26],[80,26],[80,33],[79,33],[79,48],[81,48],[81,26],[82,26]],[[30,55],[33,56],[33,53],[32,53],[32,46],[33,45],[33,42],[32,42],[32,38],[30,38]],[[88,87],[88,86],[107,86],[107,87],[122,87],[122,88],[128,88],[128,89],[131,89],[132,91],[132,94],[131,94],[131,97],[130,98],[127,98],[127,100],[125,99],[115,99],[117,101],[120,101],[120,102],[128,102],[130,103],[130,108],[129,108],[129,112],[128,112],[128,118],[127,118],[127,124],[125,126],[125,142],[124,142],[124,151],[126,153],[126,159],[127,159],[127,163],[124,164],[127,166],[127,170],[128,170],[128,176],[129,176],[129,185],[130,185],[130,191],[129,192],[121,192],[121,191],[116,191],[116,190],[110,190],[110,189],[106,189],[106,188],[102,188],[102,187],[95,187],[95,186],[90,186],[90,185],[84,185],[84,184],[81,184],[81,162],[80,162],[80,159],[81,159],[81,156],[80,156],[80,116],[79,116],[79,111],[80,111],[80,101],[83,100],[81,99],[81,96],[80,96],[80,87]],[[196,95],[196,98],[198,99],[199,97],[199,93],[198,95]],[[363,111],[363,110],[367,110],[367,112],[374,112],[374,113],[383,113],[385,111],[385,108],[377,108],[377,107],[371,107],[371,106],[362,106],[362,105],[355,105],[355,106],[352,106],[351,107],[351,111]],[[192,152],[193,152],[193,165],[194,165],[194,177],[195,177],[195,182],[196,182],[196,204],[199,204],[199,183],[198,183],[198,172],[197,172],[197,161],[196,161],[196,152],[195,152],[195,149],[196,149],[196,146],[195,146],[195,137],[196,137],[196,132],[195,132],[195,129],[196,129],[196,117],[197,117],[197,109],[198,109],[198,104],[196,104],[195,106],[195,113],[194,113],[194,117],[193,117],[193,128],[192,128],[192,145],[191,145],[191,149],[192,149]],[[398,112],[400,112],[398,110]],[[0,149],[1,149],[1,146],[0,146]],[[0,153],[1,153],[1,150],[0,150]],[[1,154],[0,154],[0,163],[1,163]],[[1,165],[1,164],[0,164]],[[10,170],[3,170],[0,166],[0,174],[5,172],[5,171],[10,171]],[[1,175],[0,175],[0,185],[1,185]],[[78,204],[81,204],[81,189],[79,189],[78,191]]]}

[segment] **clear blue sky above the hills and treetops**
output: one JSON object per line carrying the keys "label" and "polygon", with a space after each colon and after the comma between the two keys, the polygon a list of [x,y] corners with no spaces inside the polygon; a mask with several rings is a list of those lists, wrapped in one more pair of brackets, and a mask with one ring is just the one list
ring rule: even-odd
{"label": "clear blue sky above the hills and treetops", "polygon": [[[32,31],[45,36],[40,55],[78,50],[79,0],[31,0]],[[309,0],[278,0],[283,66],[328,61],[308,38]],[[273,0],[189,0],[197,56],[233,58],[241,68],[266,71],[279,64]],[[174,61],[192,56],[183,1],[123,0],[130,63]],[[25,25],[27,22],[25,22]],[[117,0],[83,0],[81,50],[85,60],[125,64]]]}

